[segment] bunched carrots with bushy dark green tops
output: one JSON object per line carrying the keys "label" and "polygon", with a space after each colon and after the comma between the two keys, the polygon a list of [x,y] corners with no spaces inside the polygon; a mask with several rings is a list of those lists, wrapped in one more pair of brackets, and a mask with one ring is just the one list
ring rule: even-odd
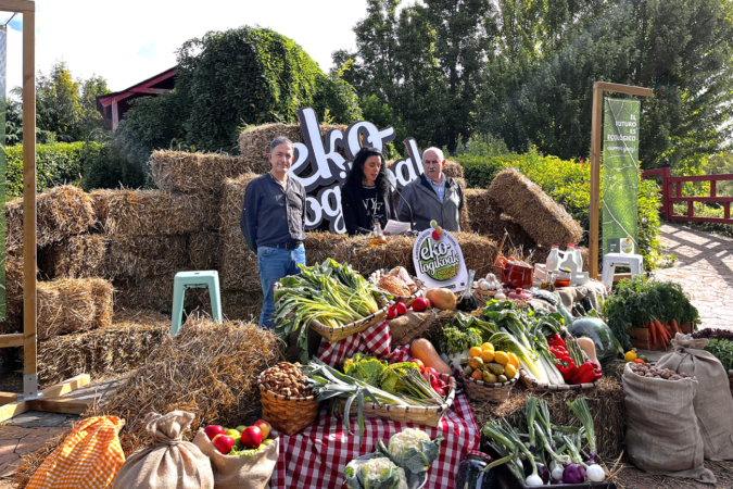
{"label": "bunched carrots with bushy dark green tops", "polygon": [[[627,329],[643,327],[654,322],[652,333],[666,336],[666,327],[658,328],[656,322],[700,323],[697,309],[690,302],[682,287],[673,281],[647,281],[645,277],[634,276],[618,284],[616,293],[603,304],[603,315],[611,331],[623,346],[631,350]],[[662,331],[661,329],[665,329]]]}

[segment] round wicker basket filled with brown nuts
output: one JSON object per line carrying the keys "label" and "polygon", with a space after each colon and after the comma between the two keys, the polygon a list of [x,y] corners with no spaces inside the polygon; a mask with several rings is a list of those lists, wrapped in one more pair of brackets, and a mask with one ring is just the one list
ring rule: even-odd
{"label": "round wicker basket filled with brown nuts", "polygon": [[262,418],[288,436],[316,419],[318,402],[300,364],[281,362],[260,374]]}

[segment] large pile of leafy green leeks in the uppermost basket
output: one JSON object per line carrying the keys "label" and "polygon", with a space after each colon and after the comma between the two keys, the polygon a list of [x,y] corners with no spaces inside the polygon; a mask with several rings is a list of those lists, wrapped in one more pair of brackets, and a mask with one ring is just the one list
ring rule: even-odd
{"label": "large pile of leafy green leeks in the uppermost basket", "polygon": [[326,259],[320,265],[298,266],[301,274],[280,279],[275,291],[275,334],[289,344],[290,335],[303,326],[298,336],[303,363],[308,362],[307,328],[314,319],[324,326],[345,326],[379,311],[378,296],[391,298],[349,264]]}

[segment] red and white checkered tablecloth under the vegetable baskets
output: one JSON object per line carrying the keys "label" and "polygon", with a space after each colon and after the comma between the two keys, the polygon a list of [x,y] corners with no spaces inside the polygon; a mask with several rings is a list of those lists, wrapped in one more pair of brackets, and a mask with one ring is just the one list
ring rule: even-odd
{"label": "red and white checkered tablecloth under the vegetable baskets", "polygon": [[[336,343],[324,340],[318,358],[331,366],[354,353],[369,353],[390,363],[409,359],[409,347],[400,347],[390,352],[391,335],[387,323],[370,326],[362,334],[353,335]],[[453,488],[458,464],[471,450],[478,450],[481,432],[468,398],[463,391],[456,392],[453,406],[445,412],[438,427],[413,423],[399,423],[381,417],[365,418],[364,442],[358,444],[356,416],[350,419],[349,435],[343,429],[340,416],[333,416],[325,403],[316,421],[292,437],[279,434],[280,456],[273,473],[273,488],[328,488],[344,487],[343,471],[357,456],[375,451],[379,439],[387,443],[390,437],[405,428],[420,428],[431,439],[445,437],[441,452],[428,471],[426,489]]]}

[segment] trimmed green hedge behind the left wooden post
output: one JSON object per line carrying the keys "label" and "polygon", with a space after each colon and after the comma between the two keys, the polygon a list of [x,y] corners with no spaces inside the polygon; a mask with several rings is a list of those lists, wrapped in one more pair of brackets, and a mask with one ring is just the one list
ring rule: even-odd
{"label": "trimmed green hedge behind the left wooden post", "polygon": [[[99,153],[97,142],[36,145],[36,189],[41,192],[64,184],[78,184],[88,155]],[[5,148],[5,197],[23,195],[23,145]]]}

